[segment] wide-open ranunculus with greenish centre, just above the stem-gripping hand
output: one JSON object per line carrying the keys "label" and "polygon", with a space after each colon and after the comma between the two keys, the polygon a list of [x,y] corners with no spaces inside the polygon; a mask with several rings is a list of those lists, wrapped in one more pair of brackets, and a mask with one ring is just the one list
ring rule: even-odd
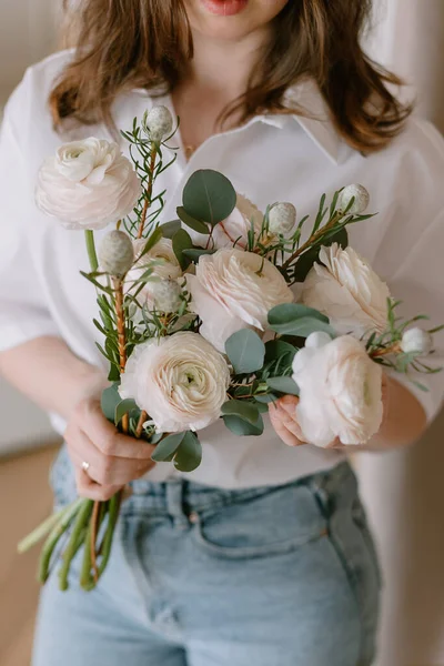
{"label": "wide-open ranunculus with greenish centre, just above the stem-gripping hand", "polygon": [[158,432],[178,433],[218,421],[229,385],[222,354],[199,333],[180,332],[137,346],[119,392],[150,415]]}

